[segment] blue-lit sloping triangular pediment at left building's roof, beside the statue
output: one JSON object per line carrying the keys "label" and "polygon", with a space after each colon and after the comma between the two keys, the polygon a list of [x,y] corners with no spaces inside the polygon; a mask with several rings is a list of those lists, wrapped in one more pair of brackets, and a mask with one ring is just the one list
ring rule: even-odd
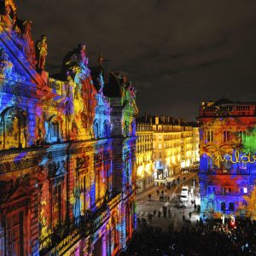
{"label": "blue-lit sloping triangular pediment at left building's roof, beside the statue", "polygon": [[25,55],[26,41],[15,32],[0,29],[0,76],[15,82],[45,85],[42,76],[35,70]]}

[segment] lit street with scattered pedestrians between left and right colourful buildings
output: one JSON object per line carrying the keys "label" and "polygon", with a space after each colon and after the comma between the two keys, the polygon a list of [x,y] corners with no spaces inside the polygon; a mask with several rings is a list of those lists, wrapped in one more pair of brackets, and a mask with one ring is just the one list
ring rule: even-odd
{"label": "lit street with scattered pedestrians between left and right colourful buildings", "polygon": [[[166,185],[154,185],[153,188],[137,195],[138,225],[147,222],[162,230],[167,230],[170,225],[173,230],[179,230],[184,221],[190,220],[194,223],[199,220],[200,199],[197,172],[178,174],[172,177],[172,180],[177,181],[177,177],[179,177],[179,182],[176,185],[169,188]],[[195,180],[195,185],[193,180]],[[180,203],[179,197],[183,186],[189,186],[189,200]],[[189,212],[191,212],[190,218]]]}

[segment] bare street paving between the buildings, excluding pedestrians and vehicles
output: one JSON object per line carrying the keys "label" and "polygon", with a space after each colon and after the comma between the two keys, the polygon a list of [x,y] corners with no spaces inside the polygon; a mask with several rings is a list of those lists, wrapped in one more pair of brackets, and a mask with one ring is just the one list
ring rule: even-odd
{"label": "bare street paving between the buildings, excluding pedestrians and vehicles", "polygon": [[[189,185],[189,190],[193,188],[192,182],[195,177],[198,180],[197,173],[191,172],[189,174],[180,174],[179,175],[180,182],[177,186],[172,187],[171,189],[167,189],[165,187],[157,187],[154,186],[151,189],[141,193],[137,196],[137,218],[142,221],[142,218],[145,218],[148,223],[148,215],[153,214],[154,210],[156,212],[161,212],[161,217],[154,217],[151,225],[159,226],[163,230],[167,230],[168,226],[172,224],[174,230],[178,230],[179,227],[183,224],[183,213],[186,219],[189,219],[189,212],[192,212],[191,222],[196,222],[199,219],[199,214],[195,212],[194,205],[191,204],[191,200],[195,199],[196,204],[200,204],[199,198],[197,198],[198,194],[198,184],[196,183],[195,189],[193,189],[193,195],[189,195],[189,201],[187,203],[187,207],[178,208],[176,201],[177,195],[180,194],[181,188],[183,185]],[[185,181],[183,181],[183,177],[186,177]],[[172,198],[172,201],[160,201],[160,195],[157,195],[157,190],[164,190],[164,196],[169,196]],[[148,200],[148,194],[151,194],[151,200]],[[163,207],[167,207],[167,216],[166,218],[163,216]],[[168,214],[168,210],[170,210],[170,214]],[[156,214],[158,216],[158,213]]]}

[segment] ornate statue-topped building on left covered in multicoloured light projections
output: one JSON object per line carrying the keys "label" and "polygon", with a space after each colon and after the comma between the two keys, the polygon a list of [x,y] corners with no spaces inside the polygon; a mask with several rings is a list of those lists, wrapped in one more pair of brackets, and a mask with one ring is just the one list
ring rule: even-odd
{"label": "ornate statue-topped building on left covered in multicoloured light projections", "polygon": [[119,254],[137,229],[134,86],[90,69],[85,44],[49,78],[47,38],[2,3],[0,255]]}

